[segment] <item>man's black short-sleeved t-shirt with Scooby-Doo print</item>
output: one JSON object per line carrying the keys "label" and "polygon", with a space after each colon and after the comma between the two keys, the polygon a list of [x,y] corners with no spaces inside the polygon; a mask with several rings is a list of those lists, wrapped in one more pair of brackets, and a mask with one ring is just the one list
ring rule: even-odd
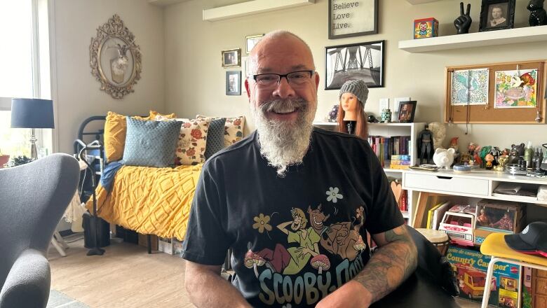
{"label": "man's black short-sleeved t-shirt with Scooby-Doo print", "polygon": [[203,165],[182,258],[220,265],[231,247],[232,283],[254,307],[313,307],[363,269],[367,231],[403,223],[367,141],[316,128],[280,178],[254,132]]}

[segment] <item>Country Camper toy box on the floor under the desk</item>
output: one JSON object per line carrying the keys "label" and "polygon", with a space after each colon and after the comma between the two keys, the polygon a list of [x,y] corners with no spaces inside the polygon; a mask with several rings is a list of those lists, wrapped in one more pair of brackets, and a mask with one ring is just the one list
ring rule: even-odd
{"label": "Country Camper toy box on the floor under the desk", "polygon": [[[458,246],[448,248],[447,259],[458,280],[459,297],[476,302],[482,301],[490,258],[489,255],[482,255],[472,249]],[[497,307],[516,307],[519,279],[518,265],[497,262],[492,281],[489,281],[491,291],[488,304]]]}

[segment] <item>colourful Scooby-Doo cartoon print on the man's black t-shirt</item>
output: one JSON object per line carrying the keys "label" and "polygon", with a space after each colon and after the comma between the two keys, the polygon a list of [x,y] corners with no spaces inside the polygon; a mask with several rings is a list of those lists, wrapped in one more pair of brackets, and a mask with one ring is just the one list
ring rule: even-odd
{"label": "colourful Scooby-Doo cartoon print on the man's black t-shirt", "polygon": [[[330,187],[325,205],[292,208],[291,221],[276,221],[276,213],[259,213],[253,218],[252,228],[264,241],[270,232],[285,234],[284,242],[259,251],[249,249],[243,260],[255,272],[263,304],[316,304],[363,269],[369,258],[361,235],[365,234],[361,230],[364,208],[343,204],[342,193]],[[354,210],[347,215],[337,204]]]}

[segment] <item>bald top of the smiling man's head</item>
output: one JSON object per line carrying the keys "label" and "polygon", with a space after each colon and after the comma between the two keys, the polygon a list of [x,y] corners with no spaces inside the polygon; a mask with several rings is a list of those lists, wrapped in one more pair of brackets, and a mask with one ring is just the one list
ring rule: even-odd
{"label": "bald top of the smiling man's head", "polygon": [[249,68],[250,73],[257,73],[257,69],[260,69],[259,62],[264,57],[267,57],[271,51],[285,49],[295,50],[301,53],[303,59],[307,60],[311,66],[309,68],[315,69],[313,64],[313,55],[309,45],[299,36],[285,30],[277,30],[269,32],[264,35],[250,52]]}

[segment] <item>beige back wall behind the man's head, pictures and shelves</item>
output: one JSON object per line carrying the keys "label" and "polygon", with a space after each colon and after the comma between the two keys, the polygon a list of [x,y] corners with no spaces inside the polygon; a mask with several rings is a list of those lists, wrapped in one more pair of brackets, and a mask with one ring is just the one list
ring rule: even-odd
{"label": "beige back wall behind the man's head, pictures and shelves", "polygon": [[[440,0],[412,6],[405,0],[379,0],[379,34],[329,40],[327,34],[328,1],[300,8],[278,10],[217,22],[203,21],[203,8],[213,8],[241,1],[191,0],[165,9],[166,38],[166,110],[191,117],[196,113],[211,116],[249,115],[248,99],[226,96],[225,72],[220,65],[220,51],[229,48],[245,50],[245,36],[274,29],[286,29],[304,38],[311,46],[316,69],[325,74],[325,46],[365,41],[386,40],[385,87],[370,90],[365,111],[379,115],[379,99],[412,97],[418,101],[416,121],[434,122],[443,119],[444,68],[464,64],[546,59],[547,43],[492,46],[411,54],[398,49],[398,41],[412,38],[414,19],[434,17],[440,22],[440,35],[455,34],[452,22],[459,15],[459,0]],[[478,31],[480,0],[471,3],[473,25]],[[527,0],[516,0],[516,27],[527,25]],[[238,69],[233,69],[238,70]],[[318,113],[322,120],[337,101],[337,90],[318,91]],[[248,129],[252,129],[249,121]],[[468,141],[481,145],[511,146],[531,140],[534,145],[547,142],[546,125],[450,125],[448,137],[460,137],[460,146]],[[447,140],[445,141],[447,144]]]}

